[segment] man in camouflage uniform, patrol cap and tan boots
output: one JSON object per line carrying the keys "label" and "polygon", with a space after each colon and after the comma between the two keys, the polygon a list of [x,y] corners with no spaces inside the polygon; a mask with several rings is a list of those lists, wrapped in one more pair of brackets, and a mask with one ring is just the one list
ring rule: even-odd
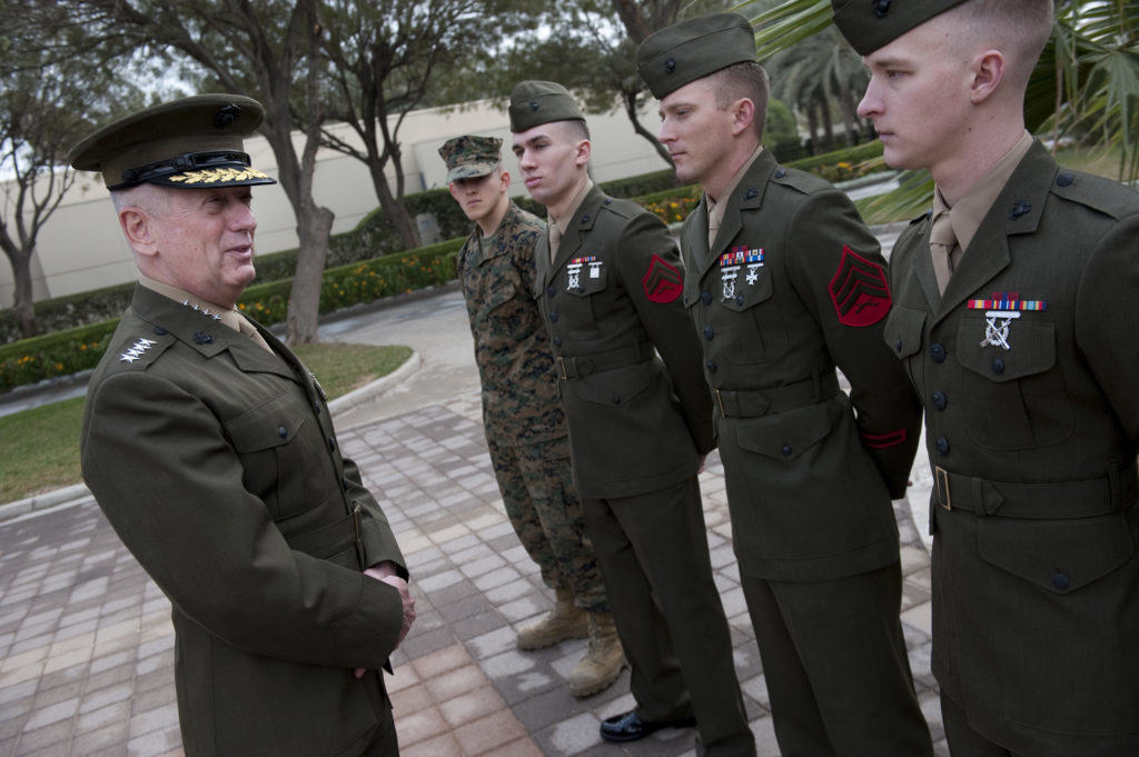
{"label": "man in camouflage uniform, patrol cap and tan boots", "polygon": [[518,647],[589,636],[585,657],[566,680],[574,696],[587,697],[612,685],[626,663],[573,491],[554,357],[533,296],[534,245],[546,224],[510,201],[501,147],[500,139],[464,135],[439,153],[451,196],[475,222],[457,268],[494,476],[515,533],[557,596],[547,616],[518,631]]}

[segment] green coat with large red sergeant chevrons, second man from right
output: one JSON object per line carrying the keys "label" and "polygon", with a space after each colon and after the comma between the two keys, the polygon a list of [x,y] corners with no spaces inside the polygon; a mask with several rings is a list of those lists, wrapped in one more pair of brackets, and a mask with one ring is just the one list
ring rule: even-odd
{"label": "green coat with large red sergeant chevrons, second man from right", "polygon": [[685,221],[683,302],[718,405],[740,573],[822,581],[896,562],[890,500],[906,494],[921,411],[882,344],[878,242],[845,195],[767,150],[723,201],[711,250],[706,197]]}

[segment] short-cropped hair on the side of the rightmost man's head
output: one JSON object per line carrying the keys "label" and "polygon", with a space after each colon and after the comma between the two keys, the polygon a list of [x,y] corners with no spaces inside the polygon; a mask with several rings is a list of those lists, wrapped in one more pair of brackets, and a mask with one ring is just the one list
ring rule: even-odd
{"label": "short-cropped hair on the side of the rightmost man's head", "polygon": [[964,26],[961,36],[1000,50],[1007,76],[1023,90],[1052,34],[1054,0],[968,0],[945,15]]}

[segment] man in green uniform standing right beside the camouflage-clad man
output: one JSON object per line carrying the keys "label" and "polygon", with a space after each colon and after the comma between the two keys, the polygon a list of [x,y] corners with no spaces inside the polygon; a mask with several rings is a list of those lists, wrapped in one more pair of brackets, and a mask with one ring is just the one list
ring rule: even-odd
{"label": "man in green uniform standing right beside the camouflage-clad man", "polygon": [[695,723],[699,754],[754,755],[696,479],[713,446],[711,403],[675,245],[659,219],[589,180],[589,131],[564,87],[515,87],[510,130],[526,189],[550,214],[535,296],[632,667],[637,707],[603,722],[601,737]]}

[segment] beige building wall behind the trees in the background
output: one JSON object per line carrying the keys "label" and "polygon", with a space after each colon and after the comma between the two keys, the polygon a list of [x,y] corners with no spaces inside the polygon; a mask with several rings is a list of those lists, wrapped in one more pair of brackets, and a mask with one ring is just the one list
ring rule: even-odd
{"label": "beige building wall behind the trees in the background", "polygon": [[[642,123],[656,124],[656,104],[642,114]],[[666,167],[652,146],[638,137],[623,112],[588,117],[593,137],[592,172],[597,181],[622,179]],[[346,125],[337,135],[355,141]],[[483,100],[460,108],[429,108],[409,113],[400,127],[405,171],[405,194],[446,186],[446,172],[439,148],[459,134],[499,137],[503,140],[503,164],[517,173],[510,154],[510,127],[505,104]],[[294,137],[297,151],[303,138]],[[262,137],[246,142],[255,167],[276,178],[277,164],[269,143]],[[388,168],[394,191],[394,171]],[[511,190],[524,191],[516,181]],[[347,231],[379,205],[367,167],[354,158],[333,150],[321,150],[317,158],[313,194],[317,201],[336,214],[333,232]],[[296,220],[279,184],[254,189],[257,215],[256,249],[273,253],[297,246]],[[7,212],[7,208],[6,211]],[[36,299],[97,289],[131,281],[134,264],[130,248],[118,230],[110,197],[101,181],[84,174],[64,198],[59,208],[41,230],[38,250],[32,262],[33,288]],[[11,268],[0,265],[0,307],[11,307]]]}

